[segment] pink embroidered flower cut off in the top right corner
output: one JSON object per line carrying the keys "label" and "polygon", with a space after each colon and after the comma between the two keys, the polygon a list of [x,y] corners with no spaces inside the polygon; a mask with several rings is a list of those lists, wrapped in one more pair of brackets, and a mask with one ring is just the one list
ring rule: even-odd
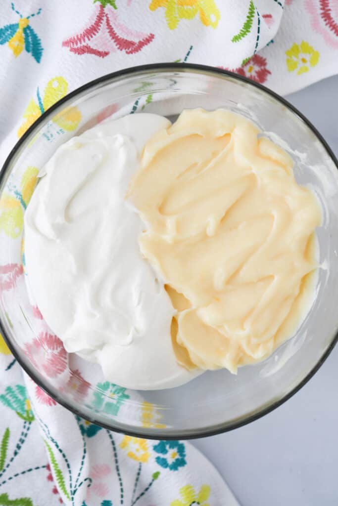
{"label": "pink embroidered flower cut off in the top right corner", "polygon": [[322,35],[328,46],[338,49],[337,0],[306,0],[305,8],[310,14],[312,28]]}

